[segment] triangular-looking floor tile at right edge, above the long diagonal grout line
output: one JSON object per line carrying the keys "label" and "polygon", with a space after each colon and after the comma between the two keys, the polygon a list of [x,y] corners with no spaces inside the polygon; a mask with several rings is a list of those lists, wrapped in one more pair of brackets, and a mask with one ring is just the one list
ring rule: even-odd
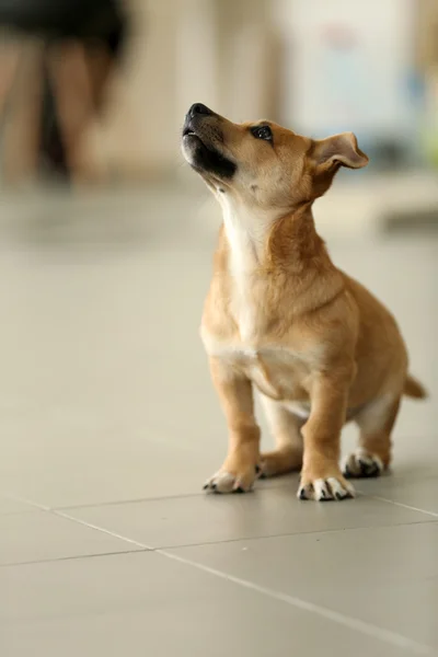
{"label": "triangular-looking floor tile at right edge, above the long diagonal grout line", "polygon": [[438,523],[270,538],[176,553],[438,650]]}

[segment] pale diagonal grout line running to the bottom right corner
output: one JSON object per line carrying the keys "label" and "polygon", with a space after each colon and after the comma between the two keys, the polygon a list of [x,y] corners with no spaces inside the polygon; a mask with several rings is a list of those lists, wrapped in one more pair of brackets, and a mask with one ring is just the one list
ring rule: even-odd
{"label": "pale diagonal grout line running to the bottom right corner", "polygon": [[251,591],[261,593],[262,596],[272,598],[273,600],[286,602],[286,604],[289,604],[290,607],[295,607],[302,611],[314,613],[328,621],[337,623],[338,625],[344,625],[345,627],[355,630],[357,632],[360,632],[361,634],[366,634],[373,638],[378,638],[384,643],[392,644],[399,648],[411,650],[416,655],[428,655],[430,657],[436,656],[435,650],[430,646],[419,644],[416,641],[407,638],[406,636],[403,636],[402,634],[399,634],[396,632],[392,632],[391,630],[383,630],[382,627],[378,627],[377,625],[372,625],[371,623],[360,621],[359,619],[355,619],[353,616],[347,616],[326,607],[321,607],[320,604],[308,602],[306,600],[302,600],[301,598],[296,598],[287,593],[281,593],[280,591],[276,591],[265,586],[261,586],[258,584],[249,581],[247,579],[242,579],[241,577],[234,577],[233,575],[229,575],[227,573],[223,573],[222,570],[205,566],[204,564],[193,562],[188,558],[185,558],[171,552],[166,552],[164,550],[155,550],[154,552],[157,554],[165,556],[166,558],[176,561],[187,566],[192,566],[193,568],[201,570],[203,573],[214,575],[215,577],[219,577],[220,579],[224,579],[226,581],[230,581]]}

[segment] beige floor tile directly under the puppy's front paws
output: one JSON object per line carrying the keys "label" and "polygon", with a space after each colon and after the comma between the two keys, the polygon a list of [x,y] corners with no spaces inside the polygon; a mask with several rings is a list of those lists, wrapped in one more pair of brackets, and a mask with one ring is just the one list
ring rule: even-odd
{"label": "beige floor tile directly under the puppy's front paws", "polygon": [[433,520],[366,497],[306,503],[296,498],[297,487],[298,477],[291,477],[280,487],[250,495],[198,495],[67,512],[153,548]]}

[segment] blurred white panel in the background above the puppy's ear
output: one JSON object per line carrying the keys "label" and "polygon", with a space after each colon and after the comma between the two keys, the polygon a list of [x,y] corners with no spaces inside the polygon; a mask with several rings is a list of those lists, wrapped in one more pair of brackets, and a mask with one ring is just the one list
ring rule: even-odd
{"label": "blurred white panel in the background above the puppy's ear", "polygon": [[[414,59],[414,15],[415,0],[276,0],[288,44],[283,120],[321,135],[406,129],[403,76]],[[334,48],[335,31],[354,46]]]}

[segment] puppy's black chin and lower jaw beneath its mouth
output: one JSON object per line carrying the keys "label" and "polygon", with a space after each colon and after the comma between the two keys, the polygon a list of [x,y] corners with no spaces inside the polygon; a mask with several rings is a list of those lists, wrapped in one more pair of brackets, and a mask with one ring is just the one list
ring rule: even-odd
{"label": "puppy's black chin and lower jaw beneath its mouth", "polygon": [[183,154],[188,164],[203,176],[229,181],[237,170],[234,162],[222,155],[216,148],[207,147],[194,132],[183,136]]}

